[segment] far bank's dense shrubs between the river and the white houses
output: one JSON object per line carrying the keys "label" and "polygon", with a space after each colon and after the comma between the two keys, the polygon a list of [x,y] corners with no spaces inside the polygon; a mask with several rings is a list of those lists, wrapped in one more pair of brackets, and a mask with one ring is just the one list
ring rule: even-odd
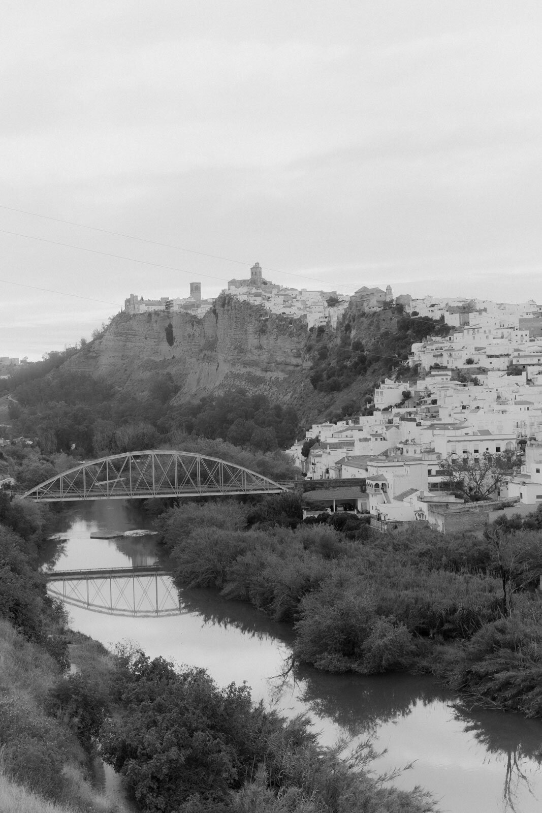
{"label": "far bank's dense shrubs between the river and the white houses", "polygon": [[[280,499],[267,501],[271,509],[277,502],[275,515],[284,515]],[[385,535],[263,522],[254,529],[249,513],[239,502],[165,512],[162,540],[177,583],[214,587],[293,622],[298,663],[327,672],[431,672],[479,704],[540,718],[537,532],[480,541],[426,528]]]}

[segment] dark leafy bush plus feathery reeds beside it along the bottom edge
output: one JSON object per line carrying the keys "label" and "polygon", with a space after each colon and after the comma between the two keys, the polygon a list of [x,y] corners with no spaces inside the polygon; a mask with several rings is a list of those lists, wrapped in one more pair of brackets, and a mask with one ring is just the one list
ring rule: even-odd
{"label": "dark leafy bush plus feathery reeds beside it along the bottom edge", "polygon": [[219,689],[202,669],[121,651],[120,711],[102,729],[102,753],[145,811],[179,813],[423,813],[418,789],[401,793],[366,771],[370,750],[319,747],[306,720],[253,706],[246,685]]}

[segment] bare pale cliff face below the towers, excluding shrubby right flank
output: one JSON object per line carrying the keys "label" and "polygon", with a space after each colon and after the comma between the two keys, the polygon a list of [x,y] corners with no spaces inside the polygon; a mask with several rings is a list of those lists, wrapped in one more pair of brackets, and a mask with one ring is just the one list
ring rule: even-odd
{"label": "bare pale cliff face below the towers, excluding shrubby right flank", "polygon": [[102,338],[67,367],[114,378],[141,392],[157,372],[170,372],[179,400],[235,386],[295,402],[310,389],[303,372],[307,330],[301,320],[269,314],[228,296],[197,319],[184,313],[115,316]]}

